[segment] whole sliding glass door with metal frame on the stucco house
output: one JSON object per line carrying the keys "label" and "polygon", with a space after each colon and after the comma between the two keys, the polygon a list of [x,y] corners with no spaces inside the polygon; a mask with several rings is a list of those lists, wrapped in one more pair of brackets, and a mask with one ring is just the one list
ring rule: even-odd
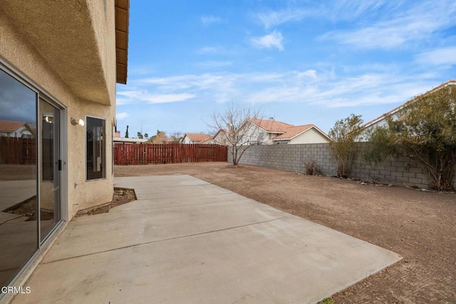
{"label": "whole sliding glass door with metal frame on the stucco house", "polygon": [[0,286],[11,283],[62,220],[64,113],[0,64]]}

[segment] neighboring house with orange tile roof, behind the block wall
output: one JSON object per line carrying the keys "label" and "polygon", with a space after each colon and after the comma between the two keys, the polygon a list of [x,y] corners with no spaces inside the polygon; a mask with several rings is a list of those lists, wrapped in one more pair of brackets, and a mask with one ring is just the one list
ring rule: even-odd
{"label": "neighboring house with orange tile roof, behind the block wall", "polygon": [[331,141],[326,133],[313,124],[293,126],[274,119],[247,119],[239,127],[240,133],[246,133],[246,139],[261,144],[298,144],[328,143]]}

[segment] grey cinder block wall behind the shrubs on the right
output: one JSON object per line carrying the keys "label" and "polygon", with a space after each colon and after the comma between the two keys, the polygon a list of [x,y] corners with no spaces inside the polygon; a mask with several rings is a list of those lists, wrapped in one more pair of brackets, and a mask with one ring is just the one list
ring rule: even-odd
{"label": "grey cinder block wall behind the shrubs on the right", "polygon": [[[351,169],[351,178],[376,183],[393,183],[397,186],[428,188],[427,173],[413,159],[393,156],[377,165],[369,165],[363,159],[364,146],[363,143],[359,145]],[[228,153],[228,161],[232,162],[231,153]],[[315,161],[323,175],[336,175],[337,166],[329,153],[328,143],[251,146],[244,152],[239,163],[305,173],[304,161]],[[454,185],[456,188],[456,178]]]}

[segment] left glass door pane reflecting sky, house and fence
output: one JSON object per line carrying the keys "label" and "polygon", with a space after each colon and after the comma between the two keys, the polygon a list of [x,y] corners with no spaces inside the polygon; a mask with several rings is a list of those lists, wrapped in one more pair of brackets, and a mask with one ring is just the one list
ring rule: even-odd
{"label": "left glass door pane reflecting sky, house and fence", "polygon": [[38,249],[36,99],[0,69],[0,286]]}

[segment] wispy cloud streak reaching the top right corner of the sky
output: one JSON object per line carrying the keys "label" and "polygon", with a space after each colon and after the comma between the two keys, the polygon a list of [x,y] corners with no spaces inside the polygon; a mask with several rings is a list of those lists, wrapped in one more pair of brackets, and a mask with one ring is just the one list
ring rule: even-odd
{"label": "wispy cloud streak reaching the top right corner of the sky", "polygon": [[440,1],[417,5],[390,20],[378,21],[362,29],[331,31],[321,39],[336,40],[363,49],[393,49],[409,41],[423,41],[435,31],[455,24],[456,3]]}

